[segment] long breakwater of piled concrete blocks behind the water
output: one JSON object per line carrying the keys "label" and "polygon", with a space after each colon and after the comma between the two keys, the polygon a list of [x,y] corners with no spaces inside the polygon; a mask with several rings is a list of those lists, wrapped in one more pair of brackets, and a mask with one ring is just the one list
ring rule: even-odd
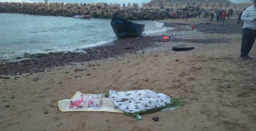
{"label": "long breakwater of piled concrete blocks behind the water", "polygon": [[[0,2],[0,13],[27,13],[34,15],[54,15],[72,17],[75,14],[92,15],[93,18],[112,18],[117,14],[129,20],[163,20],[174,18],[173,12],[181,18],[184,13],[188,12],[190,17],[196,17],[198,11],[208,12],[208,14],[220,11],[241,10],[237,9],[232,2],[175,2],[171,0],[154,0],[149,3],[143,3],[139,7],[137,3],[126,6],[108,3],[17,3],[17,2]],[[235,12],[236,13],[236,12]],[[202,14],[203,15],[203,14]]]}

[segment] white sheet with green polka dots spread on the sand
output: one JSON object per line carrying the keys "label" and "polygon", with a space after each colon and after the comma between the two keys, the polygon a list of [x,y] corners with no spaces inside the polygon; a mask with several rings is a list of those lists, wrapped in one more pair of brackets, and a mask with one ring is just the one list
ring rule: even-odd
{"label": "white sheet with green polka dots spread on the sand", "polygon": [[122,111],[135,113],[171,103],[169,96],[151,90],[109,91],[109,99]]}

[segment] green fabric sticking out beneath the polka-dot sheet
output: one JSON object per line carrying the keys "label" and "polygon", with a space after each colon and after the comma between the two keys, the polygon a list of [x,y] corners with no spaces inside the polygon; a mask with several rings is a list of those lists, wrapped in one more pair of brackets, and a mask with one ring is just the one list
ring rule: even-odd
{"label": "green fabric sticking out beneath the polka-dot sheet", "polygon": [[127,112],[125,112],[125,115],[132,116],[133,118],[135,118],[136,115],[139,115],[139,114],[155,113],[157,111],[162,111],[163,109],[173,108],[173,107],[180,107],[180,106],[183,106],[183,105],[184,105],[184,101],[183,100],[171,98],[171,104],[167,104],[166,106],[157,107],[157,108],[153,108],[153,109],[148,109],[148,110],[145,110],[145,111],[139,111],[139,112],[135,112],[135,113],[127,113]]}

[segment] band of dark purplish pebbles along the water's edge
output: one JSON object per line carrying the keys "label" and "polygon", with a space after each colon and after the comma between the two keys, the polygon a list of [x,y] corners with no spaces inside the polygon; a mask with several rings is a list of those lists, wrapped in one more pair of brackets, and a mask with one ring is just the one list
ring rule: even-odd
{"label": "band of dark purplish pebbles along the water's edge", "polygon": [[[230,21],[225,25],[225,31],[223,27],[218,24],[196,24],[196,32],[210,33],[210,34],[238,34],[240,28],[236,30],[231,29],[231,27],[240,25],[233,24],[234,20]],[[166,27],[178,27],[180,25],[191,25],[184,22],[165,22]],[[50,52],[47,56],[40,58],[32,58],[28,60],[22,60],[19,62],[7,62],[0,64],[0,75],[10,75],[16,76],[17,74],[23,73],[37,73],[44,72],[52,67],[61,67],[66,65],[72,65],[74,62],[88,62],[93,60],[101,60],[107,58],[114,58],[117,56],[124,56],[125,54],[134,54],[140,50],[145,50],[147,48],[154,48],[158,45],[156,43],[161,42],[193,42],[193,43],[203,43],[203,44],[214,44],[221,42],[228,42],[228,39],[210,38],[210,39],[186,39],[187,34],[169,34],[168,31],[165,35],[170,36],[169,40],[162,39],[163,35],[154,36],[143,36],[130,37],[121,40],[114,40],[104,45],[90,47],[83,52]],[[185,39],[184,39],[185,38]],[[45,54],[43,54],[45,55]]]}

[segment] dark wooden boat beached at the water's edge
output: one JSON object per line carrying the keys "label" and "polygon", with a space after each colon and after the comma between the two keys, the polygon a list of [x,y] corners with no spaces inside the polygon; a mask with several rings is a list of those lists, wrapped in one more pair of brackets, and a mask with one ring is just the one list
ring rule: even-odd
{"label": "dark wooden boat beached at the water's edge", "polygon": [[133,23],[117,15],[113,16],[111,26],[118,39],[141,35],[145,27],[144,24]]}

